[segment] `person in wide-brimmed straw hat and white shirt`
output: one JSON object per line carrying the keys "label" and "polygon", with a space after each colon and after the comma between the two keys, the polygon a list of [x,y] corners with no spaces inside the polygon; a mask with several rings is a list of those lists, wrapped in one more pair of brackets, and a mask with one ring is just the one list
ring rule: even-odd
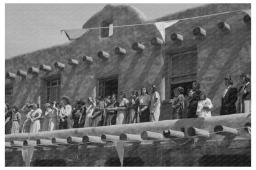
{"label": "person in wide-brimmed straw hat and white shirt", "polygon": [[62,104],[62,108],[60,109],[60,129],[68,129],[68,125],[71,120],[68,118],[71,115],[72,107],[70,106],[71,99],[68,96],[61,96],[60,102]]}

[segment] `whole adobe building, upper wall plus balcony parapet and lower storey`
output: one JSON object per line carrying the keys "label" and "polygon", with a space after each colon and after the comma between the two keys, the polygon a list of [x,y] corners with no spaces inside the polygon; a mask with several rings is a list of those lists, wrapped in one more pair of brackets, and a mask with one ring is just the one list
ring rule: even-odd
{"label": "whole adobe building, upper wall plus balcony parapet and lower storey", "polygon": [[[31,166],[120,166],[113,143],[102,141],[103,134],[104,139],[111,135],[110,139],[132,141],[125,145],[124,166],[250,166],[250,133],[244,128],[250,126],[250,116],[218,116],[223,77],[230,74],[239,87],[241,73],[250,74],[251,25],[246,9],[250,4],[209,4],[147,20],[134,7],[108,5],[82,28],[179,21],[166,28],[164,44],[154,24],[114,28],[110,37],[108,28],[90,29],[68,44],[6,60],[6,102],[10,104],[22,107],[40,100],[42,105],[62,95],[73,101],[119,91],[128,95],[154,83],[161,95],[163,120],[7,134],[6,166],[25,166],[22,145],[35,145]],[[116,47],[125,51],[118,53]],[[173,89],[183,86],[186,90],[195,80],[212,100],[213,117],[169,120]],[[143,136],[144,131],[159,136],[168,129],[175,137],[182,134],[182,139],[154,142],[150,140],[166,138]],[[198,134],[203,139],[193,141],[191,136]]]}

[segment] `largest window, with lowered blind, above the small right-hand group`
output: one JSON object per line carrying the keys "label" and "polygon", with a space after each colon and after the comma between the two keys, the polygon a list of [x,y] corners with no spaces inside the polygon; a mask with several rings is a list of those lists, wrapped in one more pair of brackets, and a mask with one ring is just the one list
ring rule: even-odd
{"label": "largest window, with lowered blind, above the small right-hand group", "polygon": [[192,88],[192,83],[196,80],[198,53],[196,50],[171,55],[170,58],[170,96],[174,97],[174,89],[184,88],[184,95]]}

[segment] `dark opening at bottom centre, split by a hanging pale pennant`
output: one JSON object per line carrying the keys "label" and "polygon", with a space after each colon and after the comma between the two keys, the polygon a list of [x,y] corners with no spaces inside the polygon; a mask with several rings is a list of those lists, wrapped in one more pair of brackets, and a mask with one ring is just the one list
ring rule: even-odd
{"label": "dark opening at bottom centre, split by a hanging pale pennant", "polygon": [[[105,166],[121,166],[119,158],[108,158]],[[144,161],[140,157],[125,157],[123,166],[144,166]]]}

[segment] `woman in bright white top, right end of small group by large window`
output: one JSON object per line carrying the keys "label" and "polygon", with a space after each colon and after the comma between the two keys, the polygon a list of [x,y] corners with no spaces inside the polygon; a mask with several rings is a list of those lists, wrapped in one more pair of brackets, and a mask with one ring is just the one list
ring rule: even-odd
{"label": "woman in bright white top, right end of small group by large window", "polygon": [[212,117],[210,109],[212,109],[212,102],[206,97],[206,92],[202,91],[200,94],[200,101],[198,101],[198,109],[196,115],[198,117]]}

